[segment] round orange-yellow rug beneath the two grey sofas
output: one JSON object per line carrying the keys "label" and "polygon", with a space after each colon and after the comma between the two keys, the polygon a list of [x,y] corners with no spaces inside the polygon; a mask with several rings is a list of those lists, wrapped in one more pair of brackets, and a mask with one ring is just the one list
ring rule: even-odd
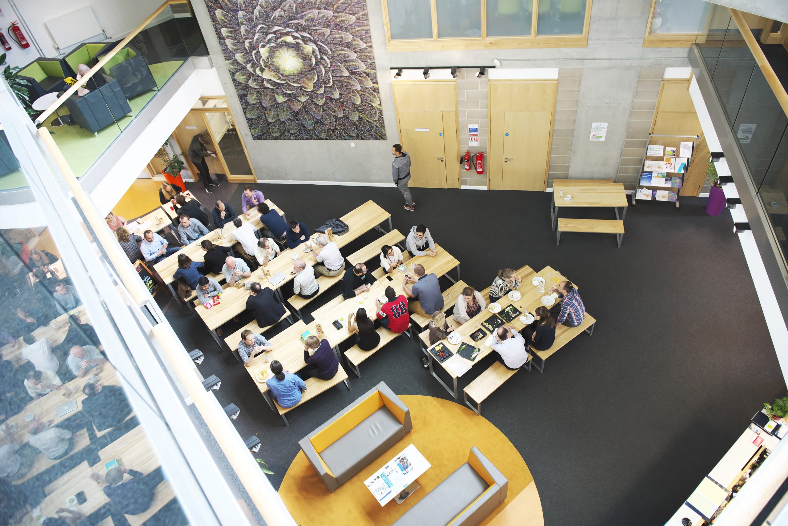
{"label": "round orange-yellow rug beneath the two grey sofas", "polygon": [[[456,402],[415,394],[400,395],[400,398],[411,409],[413,431],[333,493],[325,488],[303,451],[299,451],[279,488],[279,495],[296,524],[388,526],[463,465],[468,460],[472,446],[477,446],[509,480],[506,502],[481,524],[490,524],[493,517],[499,514],[501,517],[492,523],[496,526],[544,524],[533,476],[504,433],[489,420]],[[326,420],[329,417],[326,415]],[[391,501],[380,506],[364,486],[364,480],[411,443],[432,467],[418,477],[421,487],[401,505]],[[511,521],[507,520],[509,515],[512,516]],[[531,518],[522,522],[526,516]]]}

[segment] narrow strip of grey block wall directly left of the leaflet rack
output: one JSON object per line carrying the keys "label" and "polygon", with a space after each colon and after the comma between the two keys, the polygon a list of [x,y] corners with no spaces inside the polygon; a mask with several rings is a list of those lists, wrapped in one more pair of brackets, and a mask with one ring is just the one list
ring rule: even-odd
{"label": "narrow strip of grey block wall directly left of the leaflet rack", "polygon": [[624,183],[627,190],[634,190],[640,177],[664,71],[663,68],[640,68],[637,72],[637,87],[632,99],[630,119],[626,124],[626,139],[616,179]]}

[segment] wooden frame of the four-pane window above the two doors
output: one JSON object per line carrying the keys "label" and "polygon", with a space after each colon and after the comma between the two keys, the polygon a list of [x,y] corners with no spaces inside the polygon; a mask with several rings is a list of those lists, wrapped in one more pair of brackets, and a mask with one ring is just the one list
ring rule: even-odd
{"label": "wooden frame of the four-pane window above the two doors", "polygon": [[[533,0],[533,19],[531,20],[530,36],[487,36],[487,0],[481,0],[481,37],[438,38],[437,2],[429,0],[432,14],[433,37],[431,39],[397,39],[392,40],[391,28],[388,25],[388,4],[381,0],[383,7],[383,25],[386,32],[386,48],[389,51],[453,51],[453,50],[515,50],[544,47],[586,47],[589,40],[589,21],[591,20],[591,3],[585,3],[585,19],[582,35],[541,35],[537,36],[539,18],[539,0]],[[653,10],[653,9],[652,9]]]}

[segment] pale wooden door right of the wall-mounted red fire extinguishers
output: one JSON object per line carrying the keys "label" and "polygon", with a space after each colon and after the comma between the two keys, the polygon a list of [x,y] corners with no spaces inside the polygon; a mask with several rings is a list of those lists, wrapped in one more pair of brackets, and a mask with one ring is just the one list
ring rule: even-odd
{"label": "pale wooden door right of the wall-mounted red fire extinguishers", "polygon": [[555,80],[489,81],[490,190],[545,191]]}

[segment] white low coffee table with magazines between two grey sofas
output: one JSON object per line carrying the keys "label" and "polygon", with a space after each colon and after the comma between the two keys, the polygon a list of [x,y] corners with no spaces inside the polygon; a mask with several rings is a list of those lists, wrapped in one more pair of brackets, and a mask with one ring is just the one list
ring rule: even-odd
{"label": "white low coffee table with magazines between two grey sofas", "polygon": [[418,489],[416,479],[431,468],[427,459],[411,444],[364,481],[364,485],[381,506],[392,499],[397,504]]}

